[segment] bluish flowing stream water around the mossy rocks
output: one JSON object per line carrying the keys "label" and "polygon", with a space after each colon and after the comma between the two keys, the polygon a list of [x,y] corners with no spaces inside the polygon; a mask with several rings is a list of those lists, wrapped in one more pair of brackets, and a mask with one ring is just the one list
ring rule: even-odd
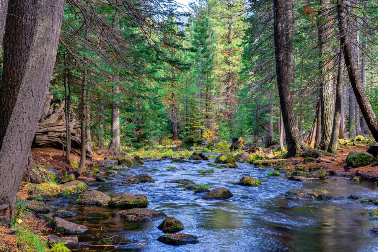
{"label": "bluish flowing stream water around the mossy rocks", "polygon": [[[284,172],[279,177],[267,176],[272,169],[246,163],[238,165],[236,169],[214,169],[214,173],[200,174],[199,170],[212,168],[207,161],[201,164],[150,161],[119,170],[113,176],[115,181],[89,185],[111,197],[125,192],[146,194],[150,202],[147,208],[180,220],[184,225],[182,232],[196,235],[200,241],[197,244],[163,244],[156,240],[163,234],[157,229],[162,220],[131,223],[116,214],[120,209],[71,205],[76,196],[56,197],[48,204],[76,213],[66,220],[88,227],[89,231],[79,235],[79,242],[94,244],[111,235],[135,240],[133,244],[117,247],[118,251],[378,251],[378,237],[368,232],[371,227],[378,226],[378,221],[368,217],[369,209],[374,205],[353,199],[321,201],[283,196],[293,188],[322,188],[333,196],[377,197],[378,189],[374,184],[347,179],[296,182],[288,180]],[[167,171],[168,166],[178,170]],[[155,168],[158,171],[149,172]],[[108,169],[101,167],[101,170]],[[156,182],[135,186],[115,184],[118,179],[125,179],[124,174],[142,173],[150,174]],[[262,185],[229,184],[244,175],[259,179]],[[234,196],[224,201],[195,199],[204,193],[195,195],[193,191],[176,187],[177,184],[169,183],[172,179],[191,179],[196,184],[209,185],[210,190],[226,187]],[[143,243],[147,245],[139,245]],[[109,250],[90,247],[90,251]]]}

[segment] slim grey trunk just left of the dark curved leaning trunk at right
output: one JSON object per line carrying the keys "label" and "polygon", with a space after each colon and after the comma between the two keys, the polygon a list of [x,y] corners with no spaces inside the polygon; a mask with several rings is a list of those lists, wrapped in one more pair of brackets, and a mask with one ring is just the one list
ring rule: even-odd
{"label": "slim grey trunk just left of the dark curved leaning trunk at right", "polygon": [[339,52],[337,83],[336,83],[336,101],[335,101],[335,113],[333,116],[333,126],[331,139],[328,145],[327,152],[337,154],[337,147],[339,142],[339,130],[340,130],[340,117],[342,109],[342,83],[344,82],[344,57],[342,52]]}

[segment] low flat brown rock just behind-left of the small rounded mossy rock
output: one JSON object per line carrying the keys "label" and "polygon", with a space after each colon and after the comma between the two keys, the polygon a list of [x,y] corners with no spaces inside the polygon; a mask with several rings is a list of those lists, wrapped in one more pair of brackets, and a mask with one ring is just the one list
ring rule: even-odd
{"label": "low flat brown rock just behind-left of the small rounded mossy rock", "polygon": [[124,216],[128,221],[135,222],[155,221],[167,217],[163,212],[145,208],[132,208],[118,212],[118,214]]}

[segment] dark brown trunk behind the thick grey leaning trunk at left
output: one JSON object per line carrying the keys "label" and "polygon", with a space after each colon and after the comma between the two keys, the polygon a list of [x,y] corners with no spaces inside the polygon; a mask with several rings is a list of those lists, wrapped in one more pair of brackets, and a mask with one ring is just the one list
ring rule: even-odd
{"label": "dark brown trunk behind the thick grey leaning trunk at left", "polygon": [[[0,25],[5,24],[6,26],[0,92],[0,146],[11,119],[25,73],[26,62],[29,58],[37,15],[37,3],[37,0],[10,0],[6,23]],[[2,5],[3,3],[0,6]],[[3,31],[0,30],[1,38],[3,38]],[[2,42],[3,40],[0,43]]]}

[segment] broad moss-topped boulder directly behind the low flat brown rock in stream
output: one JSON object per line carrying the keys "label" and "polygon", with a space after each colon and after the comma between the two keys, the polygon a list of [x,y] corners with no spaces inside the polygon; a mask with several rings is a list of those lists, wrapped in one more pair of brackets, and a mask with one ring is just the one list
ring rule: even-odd
{"label": "broad moss-topped boulder directly behind the low flat brown rock in stream", "polygon": [[149,202],[147,196],[144,194],[124,193],[119,197],[110,199],[108,204],[110,207],[131,209],[135,207],[147,207]]}

